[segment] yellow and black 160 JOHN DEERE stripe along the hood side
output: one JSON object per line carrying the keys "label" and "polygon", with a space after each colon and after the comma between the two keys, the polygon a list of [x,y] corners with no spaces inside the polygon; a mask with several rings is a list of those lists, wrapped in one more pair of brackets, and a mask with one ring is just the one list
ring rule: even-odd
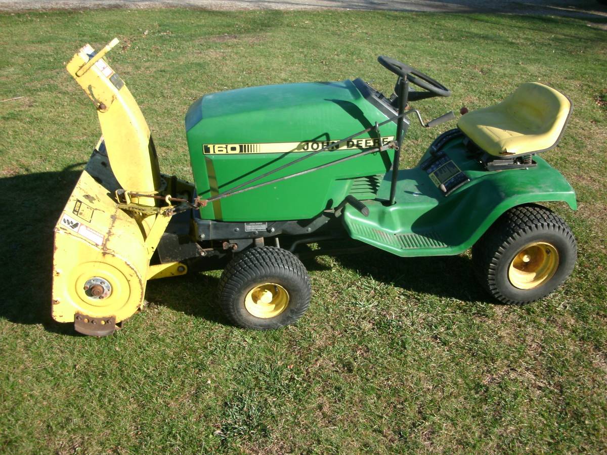
{"label": "yellow and black 160 JOHN DEERE stripe along the hood side", "polygon": [[202,146],[205,155],[236,154],[236,153],[286,153],[286,152],[314,152],[324,147],[330,150],[359,150],[379,147],[394,140],[394,136],[385,136],[367,139],[351,139],[337,145],[339,141],[304,141],[304,142],[272,142],[262,144],[206,144]]}

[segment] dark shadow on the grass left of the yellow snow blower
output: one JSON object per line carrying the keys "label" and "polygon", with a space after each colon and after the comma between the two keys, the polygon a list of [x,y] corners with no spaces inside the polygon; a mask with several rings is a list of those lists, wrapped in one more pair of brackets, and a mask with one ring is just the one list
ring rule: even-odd
{"label": "dark shadow on the grass left of the yellow snow blower", "polygon": [[72,325],[50,316],[53,229],[84,163],[60,172],[0,178],[4,261],[0,317],[18,324],[42,324],[50,332],[70,334]]}

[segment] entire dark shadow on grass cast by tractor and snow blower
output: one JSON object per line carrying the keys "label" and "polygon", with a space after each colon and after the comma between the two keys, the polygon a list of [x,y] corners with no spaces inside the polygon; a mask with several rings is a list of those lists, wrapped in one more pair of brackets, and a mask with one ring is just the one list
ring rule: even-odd
{"label": "entire dark shadow on grass cast by tractor and snow blower", "polygon": [[[81,165],[60,172],[39,172],[0,178],[0,207],[3,214],[0,257],[4,260],[0,317],[18,324],[41,324],[47,331],[74,334],[71,324],[60,324],[50,316],[53,267],[53,229],[80,177]],[[473,277],[469,258],[399,258],[371,249],[364,255],[342,255],[336,260],[362,276],[402,289],[486,302],[488,296]],[[327,270],[307,260],[310,270]],[[191,272],[171,280],[148,283],[146,300],[195,317],[227,324],[216,302],[218,278]]]}

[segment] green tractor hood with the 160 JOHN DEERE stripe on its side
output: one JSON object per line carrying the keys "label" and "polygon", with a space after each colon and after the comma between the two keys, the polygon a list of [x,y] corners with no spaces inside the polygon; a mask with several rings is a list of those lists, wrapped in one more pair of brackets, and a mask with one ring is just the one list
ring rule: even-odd
{"label": "green tractor hood with the 160 JOHN DEERE stripe on its side", "polygon": [[[211,197],[394,115],[385,106],[376,107],[370,98],[361,79],[250,87],[203,96],[192,104],[185,120],[198,195]],[[395,124],[387,124],[381,137],[369,132],[266,180],[387,143],[395,130]],[[311,218],[341,203],[353,185],[358,186],[357,180],[387,172],[392,157],[392,150],[366,155],[217,201],[201,209],[200,215],[223,221]]]}

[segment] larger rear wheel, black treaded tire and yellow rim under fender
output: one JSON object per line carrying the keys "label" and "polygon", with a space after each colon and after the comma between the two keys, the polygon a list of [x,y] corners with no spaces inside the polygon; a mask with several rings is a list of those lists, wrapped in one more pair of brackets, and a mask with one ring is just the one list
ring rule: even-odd
{"label": "larger rear wheel, black treaded tire and yellow rim under fender", "polygon": [[481,285],[510,305],[546,297],[569,277],[576,258],[577,244],[569,226],[535,204],[501,215],[472,247]]}

